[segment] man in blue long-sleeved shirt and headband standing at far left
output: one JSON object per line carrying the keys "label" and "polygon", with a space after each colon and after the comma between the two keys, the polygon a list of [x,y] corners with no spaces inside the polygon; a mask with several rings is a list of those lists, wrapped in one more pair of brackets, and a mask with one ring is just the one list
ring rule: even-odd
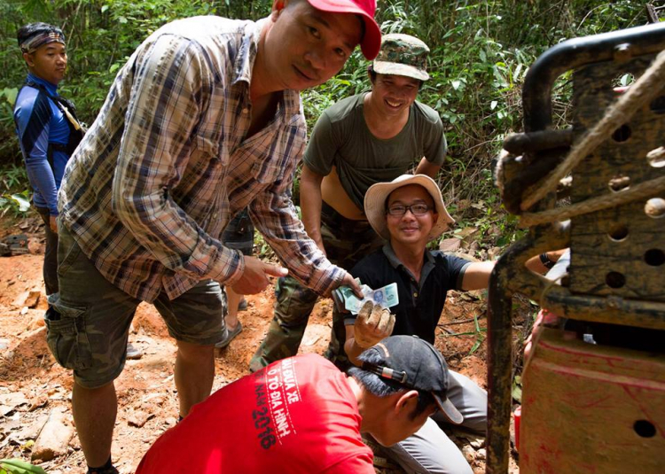
{"label": "man in blue long-sleeved shirt and headband standing at far left", "polygon": [[33,205],[46,224],[43,280],[46,294],[52,294],[58,292],[58,190],[82,131],[71,104],[58,94],[67,65],[65,35],[59,27],[31,23],[19,29],[17,38],[28,73],[16,98],[14,121]]}

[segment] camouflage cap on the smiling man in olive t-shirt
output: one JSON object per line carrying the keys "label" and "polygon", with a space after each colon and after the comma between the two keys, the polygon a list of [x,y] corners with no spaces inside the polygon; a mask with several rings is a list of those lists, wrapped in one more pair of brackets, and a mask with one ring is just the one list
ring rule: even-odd
{"label": "camouflage cap on the smiling man in olive t-shirt", "polygon": [[396,74],[413,77],[420,81],[429,79],[427,56],[429,48],[415,36],[383,35],[379,56],[372,66],[379,74]]}

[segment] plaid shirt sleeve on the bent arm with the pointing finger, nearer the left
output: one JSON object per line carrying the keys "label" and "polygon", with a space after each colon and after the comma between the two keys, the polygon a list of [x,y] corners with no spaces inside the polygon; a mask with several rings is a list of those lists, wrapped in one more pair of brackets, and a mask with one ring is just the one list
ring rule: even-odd
{"label": "plaid shirt sleeve on the bent arm with the pointing finger, nearer the left", "polygon": [[169,193],[185,173],[215,74],[198,45],[178,35],[145,43],[134,68],[113,210],[165,267],[233,284],[244,269],[239,252],[207,235]]}

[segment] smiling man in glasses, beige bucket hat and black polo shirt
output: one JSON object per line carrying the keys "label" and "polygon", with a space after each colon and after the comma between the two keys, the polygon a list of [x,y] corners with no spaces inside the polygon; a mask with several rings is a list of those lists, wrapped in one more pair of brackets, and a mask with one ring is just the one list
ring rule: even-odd
{"label": "smiling man in glasses, beige bucket hat and black polo shirt", "polygon": [[[358,354],[366,347],[390,335],[414,335],[434,344],[447,291],[487,288],[494,268],[493,261],[471,262],[426,249],[427,243],[441,236],[454,220],[443,204],[441,190],[425,175],[402,175],[390,183],[372,185],[365,194],[364,210],[372,228],[387,244],[360,260],[351,274],[375,289],[396,283],[399,303],[390,308],[392,314],[368,302],[357,317],[346,315],[344,349],[355,364],[362,363]],[[539,272],[546,269],[538,257],[529,260],[527,267]],[[344,359],[344,354],[338,354],[338,360]],[[473,472],[439,423],[485,431],[487,392],[468,377],[452,370],[448,373],[448,398],[461,416],[434,414],[413,436],[386,449],[387,455],[409,473]]]}

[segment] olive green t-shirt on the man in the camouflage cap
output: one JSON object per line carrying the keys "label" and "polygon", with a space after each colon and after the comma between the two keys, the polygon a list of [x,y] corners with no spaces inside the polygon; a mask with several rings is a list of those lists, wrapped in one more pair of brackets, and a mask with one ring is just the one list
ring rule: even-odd
{"label": "olive green t-shirt on the man in the camouflage cap", "polygon": [[439,114],[418,101],[400,133],[387,140],[373,136],[364,121],[364,96],[340,100],[321,114],[303,159],[318,175],[337,167],[342,187],[360,209],[372,184],[394,180],[423,157],[442,165],[447,149]]}

